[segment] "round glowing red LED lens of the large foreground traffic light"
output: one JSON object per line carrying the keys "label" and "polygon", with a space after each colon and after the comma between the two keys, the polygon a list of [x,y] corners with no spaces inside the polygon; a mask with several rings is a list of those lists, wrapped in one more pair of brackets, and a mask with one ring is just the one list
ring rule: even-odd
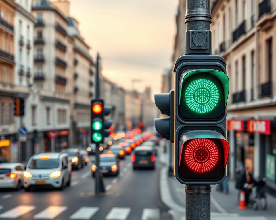
{"label": "round glowing red LED lens of the large foreground traffic light", "polygon": [[208,138],[191,140],[184,151],[185,163],[198,173],[212,170],[218,163],[218,146]]}

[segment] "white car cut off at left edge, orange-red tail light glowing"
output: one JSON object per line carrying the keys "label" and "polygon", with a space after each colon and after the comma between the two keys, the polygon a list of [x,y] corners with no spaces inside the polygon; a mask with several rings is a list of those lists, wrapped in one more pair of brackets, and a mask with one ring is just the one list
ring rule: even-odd
{"label": "white car cut off at left edge, orange-red tail light glowing", "polygon": [[25,166],[20,163],[0,163],[0,188],[20,190]]}

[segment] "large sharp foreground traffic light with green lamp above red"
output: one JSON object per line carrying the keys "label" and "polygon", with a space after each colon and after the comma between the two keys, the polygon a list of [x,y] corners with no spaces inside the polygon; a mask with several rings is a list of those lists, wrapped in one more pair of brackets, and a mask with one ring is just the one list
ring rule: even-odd
{"label": "large sharp foreground traffic light with green lamp above red", "polygon": [[174,135],[174,174],[180,183],[218,184],[225,179],[229,155],[226,62],[216,55],[184,55],[176,60],[173,72],[174,102],[162,94],[166,98],[160,106],[161,95],[157,95],[159,100],[155,97],[170,123],[156,119],[156,130],[162,137],[168,131]]}

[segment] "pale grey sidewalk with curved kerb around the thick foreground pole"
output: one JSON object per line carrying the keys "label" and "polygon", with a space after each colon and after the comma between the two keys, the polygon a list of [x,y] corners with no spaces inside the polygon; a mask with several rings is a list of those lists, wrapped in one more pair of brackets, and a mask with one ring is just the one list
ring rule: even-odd
{"label": "pale grey sidewalk with curved kerb around the thick foreground pole", "polygon": [[[161,149],[162,146],[161,146]],[[168,152],[168,151],[167,151]],[[160,152],[160,162],[164,165],[160,173],[160,198],[170,207],[170,215],[174,220],[185,220],[185,185],[180,184],[175,177],[168,177],[168,153]],[[235,219],[235,220],[275,220],[276,198],[267,195],[267,210],[252,207],[245,210],[237,209],[237,190],[235,182],[229,181],[229,194],[216,191],[216,185],[212,185],[211,192],[211,218]]]}

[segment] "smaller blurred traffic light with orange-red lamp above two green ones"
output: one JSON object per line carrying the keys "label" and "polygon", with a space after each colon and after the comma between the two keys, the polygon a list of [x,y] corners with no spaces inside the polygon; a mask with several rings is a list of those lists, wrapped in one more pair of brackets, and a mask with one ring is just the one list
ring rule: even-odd
{"label": "smaller blurred traffic light with orange-red lamp above two green ones", "polygon": [[104,100],[91,101],[91,143],[104,143],[104,137],[110,133],[108,129],[112,121],[104,120],[111,113],[112,107],[104,107]]}

